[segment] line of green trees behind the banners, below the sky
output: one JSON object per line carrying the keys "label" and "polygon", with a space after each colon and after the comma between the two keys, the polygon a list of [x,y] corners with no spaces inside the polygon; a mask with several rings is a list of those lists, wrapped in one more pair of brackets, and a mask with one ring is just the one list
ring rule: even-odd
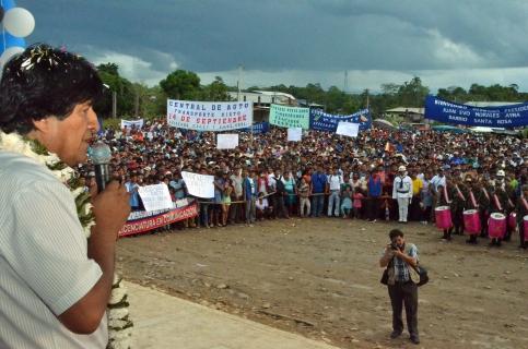
{"label": "line of green trees behind the banners, below the sky", "polygon": [[[176,70],[163,79],[156,86],[132,83],[119,74],[119,67],[115,63],[105,63],[97,67],[101,79],[108,88],[99,104],[98,113],[103,118],[112,116],[113,94],[117,99],[118,117],[153,118],[165,115],[166,99],[225,101],[230,100],[228,92],[237,91],[236,86],[227,86],[221,76],[208,84],[201,84],[198,74],[186,70]],[[309,104],[322,105],[327,112],[349,115],[359,109],[369,107],[375,118],[383,117],[385,110],[396,107],[423,107],[425,96],[430,88],[415,76],[403,84],[387,83],[380,86],[380,92],[372,93],[368,89],[362,93],[345,93],[337,86],[325,89],[318,83],[307,84],[305,87],[285,86],[251,86],[251,91],[275,91],[295,96]],[[528,93],[518,91],[512,84],[502,86],[494,84],[483,86],[472,84],[469,89],[460,86],[439,88],[437,96],[456,103],[467,101],[526,101]]]}

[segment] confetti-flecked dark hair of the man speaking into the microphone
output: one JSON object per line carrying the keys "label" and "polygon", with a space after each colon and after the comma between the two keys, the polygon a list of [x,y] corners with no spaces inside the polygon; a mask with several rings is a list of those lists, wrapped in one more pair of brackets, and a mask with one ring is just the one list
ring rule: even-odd
{"label": "confetti-flecked dark hair of the man speaking into the microphone", "polygon": [[66,119],[82,103],[103,95],[95,68],[74,53],[36,44],[12,58],[0,81],[0,129],[26,134],[33,121]]}

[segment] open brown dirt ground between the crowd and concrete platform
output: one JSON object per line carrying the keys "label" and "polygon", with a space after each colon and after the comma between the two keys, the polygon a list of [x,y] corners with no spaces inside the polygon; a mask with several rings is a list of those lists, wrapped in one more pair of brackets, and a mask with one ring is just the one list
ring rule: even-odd
{"label": "open brown dirt ground between the crowd and concrete platform", "polygon": [[528,252],[443,242],[432,226],[399,226],[431,281],[419,289],[421,345],[390,340],[378,266],[398,224],[340,218],[121,239],[125,278],[341,348],[528,348]]}

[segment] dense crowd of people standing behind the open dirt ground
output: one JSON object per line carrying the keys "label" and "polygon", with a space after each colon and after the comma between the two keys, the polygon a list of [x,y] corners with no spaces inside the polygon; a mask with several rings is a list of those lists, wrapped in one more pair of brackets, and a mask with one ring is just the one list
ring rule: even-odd
{"label": "dense crowd of people standing behind the open dirt ground", "polygon": [[[448,206],[453,227],[443,239],[462,234],[462,213],[474,208],[481,237],[491,213],[516,213],[518,227],[508,226],[504,240],[518,229],[526,248],[528,144],[519,137],[372,129],[356,139],[306,131],[301,142],[286,142],[284,129],[271,128],[242,132],[238,147],[225,151],[216,149],[214,133],[169,128],[163,119],[102,137],[114,151],[114,177],[132,192],[132,209],[141,209],[140,185],[165,182],[176,201],[188,196],[181,171],[214,176],[214,197],[199,198],[200,217],[179,228],[293,216],[426,225],[435,207]],[[83,172],[90,181],[90,167]]]}

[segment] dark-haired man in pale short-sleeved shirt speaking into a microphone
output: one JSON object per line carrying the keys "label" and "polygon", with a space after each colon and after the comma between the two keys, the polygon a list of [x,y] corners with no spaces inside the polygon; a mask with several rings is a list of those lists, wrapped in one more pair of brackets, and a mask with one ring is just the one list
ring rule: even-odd
{"label": "dark-haired man in pale short-sleeved shirt speaking into a microphone", "polygon": [[[0,348],[105,348],[117,233],[129,194],[93,191],[86,240],[70,190],[8,142],[35,140],[70,167],[98,129],[102,82],[84,59],[46,45],[11,59],[0,81]],[[20,140],[20,142],[23,142]]]}

